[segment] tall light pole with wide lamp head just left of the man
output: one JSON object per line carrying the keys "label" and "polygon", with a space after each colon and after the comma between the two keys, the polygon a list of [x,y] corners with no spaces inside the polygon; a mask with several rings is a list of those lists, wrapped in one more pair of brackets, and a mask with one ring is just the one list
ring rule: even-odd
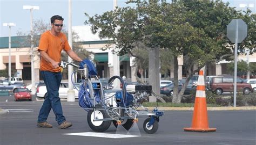
{"label": "tall light pole with wide lamp head just left of the man", "polygon": [[30,50],[31,50],[31,94],[35,95],[36,88],[35,88],[35,67],[34,67],[34,45],[33,45],[33,16],[32,10],[39,10],[39,6],[31,6],[31,5],[23,5],[24,10],[30,10]]}

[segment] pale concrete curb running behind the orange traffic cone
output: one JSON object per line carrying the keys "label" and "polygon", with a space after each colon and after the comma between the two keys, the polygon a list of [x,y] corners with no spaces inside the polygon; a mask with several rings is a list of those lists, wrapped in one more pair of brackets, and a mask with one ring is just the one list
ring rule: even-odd
{"label": "pale concrete curb running behind the orange traffic cone", "polygon": [[[153,110],[155,107],[145,107],[149,110]],[[157,107],[158,110],[194,110],[194,107]],[[247,106],[247,107],[207,107],[207,111],[223,111],[223,110],[256,110],[256,106]]]}

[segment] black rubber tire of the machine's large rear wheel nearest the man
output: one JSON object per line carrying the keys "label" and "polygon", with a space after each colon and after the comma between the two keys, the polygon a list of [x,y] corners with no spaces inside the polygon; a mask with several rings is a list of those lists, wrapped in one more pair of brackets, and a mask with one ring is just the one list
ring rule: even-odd
{"label": "black rubber tire of the machine's large rear wheel nearest the man", "polygon": [[[95,106],[96,108],[102,108],[102,106],[100,105],[96,105]],[[106,113],[105,110],[96,110],[98,113],[102,113],[103,115],[103,119],[104,118],[109,118],[109,115]],[[95,132],[104,132],[106,131],[106,129],[108,129],[111,125],[111,120],[109,121],[102,121],[102,124],[100,124],[99,126],[95,126],[93,125],[93,122],[91,120],[91,117],[93,118],[93,113],[94,111],[93,110],[89,110],[88,113],[87,113],[87,122],[88,122],[88,125],[90,126],[90,128],[95,131]],[[95,122],[98,122],[98,121],[95,121]]]}

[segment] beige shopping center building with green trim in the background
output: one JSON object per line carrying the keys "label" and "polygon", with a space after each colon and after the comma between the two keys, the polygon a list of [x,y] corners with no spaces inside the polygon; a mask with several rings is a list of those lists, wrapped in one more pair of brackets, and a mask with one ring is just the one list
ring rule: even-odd
{"label": "beige shopping center building with green trim in the background", "polygon": [[[93,59],[97,62],[97,71],[99,77],[111,77],[113,76],[113,54],[111,49],[102,50],[105,47],[107,40],[100,40],[97,35],[94,35],[90,31],[89,26],[73,26],[72,30],[78,33],[80,44],[89,52],[94,54]],[[30,44],[22,44],[28,36],[11,37],[11,69],[16,70],[16,76],[22,77],[24,80],[31,80],[31,59],[30,59]],[[37,46],[35,46],[37,47]],[[110,47],[111,48],[111,47]],[[9,63],[9,38],[0,38],[0,70],[8,68]],[[133,57],[128,54],[120,56],[120,76],[126,76],[131,81],[135,81],[136,66],[133,63]],[[39,61],[40,57],[35,57],[35,82],[40,79],[39,76]],[[256,62],[256,53],[253,55],[239,55],[238,60],[249,60],[250,63]],[[183,57],[178,60],[179,63],[179,79],[184,75],[183,73]],[[230,62],[221,61],[218,64],[209,66],[207,75],[221,75],[226,74],[226,64]],[[170,69],[171,71],[173,69]],[[170,77],[173,77],[173,72],[170,72]]]}

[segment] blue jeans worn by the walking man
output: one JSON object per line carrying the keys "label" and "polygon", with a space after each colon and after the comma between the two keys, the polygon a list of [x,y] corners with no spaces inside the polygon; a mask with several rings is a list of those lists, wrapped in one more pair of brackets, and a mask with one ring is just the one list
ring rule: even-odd
{"label": "blue jeans worn by the walking man", "polygon": [[44,98],[44,103],[38,115],[38,123],[45,122],[51,111],[55,114],[58,124],[62,124],[66,119],[62,113],[62,104],[59,98],[59,85],[62,80],[62,74],[50,71],[40,71],[46,85],[48,95]]}

